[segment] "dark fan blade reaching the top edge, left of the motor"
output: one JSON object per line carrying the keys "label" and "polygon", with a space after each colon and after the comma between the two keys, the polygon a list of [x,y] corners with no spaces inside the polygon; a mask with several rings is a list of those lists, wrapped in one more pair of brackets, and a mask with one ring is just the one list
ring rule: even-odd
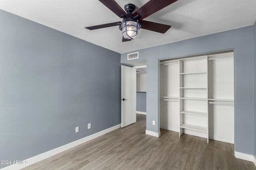
{"label": "dark fan blade reaching the top edge, left of the motor", "polygon": [[114,0],[99,0],[104,4],[108,9],[114,12],[118,17],[122,18],[122,15],[127,16],[126,12],[116,3]]}

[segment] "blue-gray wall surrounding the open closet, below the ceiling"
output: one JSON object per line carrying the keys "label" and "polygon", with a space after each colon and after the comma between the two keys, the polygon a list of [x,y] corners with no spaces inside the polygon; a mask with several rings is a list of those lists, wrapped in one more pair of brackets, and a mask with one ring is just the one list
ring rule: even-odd
{"label": "blue-gray wall surrounding the open closet, below the ceiling", "polygon": [[[172,31],[170,29],[170,31]],[[172,38],[172,37],[166,37]],[[134,40],[136,41],[136,39]],[[147,61],[146,129],[159,132],[158,60],[234,49],[235,150],[254,154],[253,26],[138,50]],[[132,52],[132,51],[131,51]],[[135,51],[134,51],[135,52]],[[130,52],[129,52],[130,53]],[[128,63],[127,53],[121,63]],[[156,125],[152,125],[152,120]]]}

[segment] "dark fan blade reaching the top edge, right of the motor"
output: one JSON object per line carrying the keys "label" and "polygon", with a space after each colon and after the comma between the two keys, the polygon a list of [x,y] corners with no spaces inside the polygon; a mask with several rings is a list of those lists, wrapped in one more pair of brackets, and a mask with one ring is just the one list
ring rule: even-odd
{"label": "dark fan blade reaching the top edge, right of the motor", "polygon": [[176,2],[177,0],[150,0],[144,4],[140,9],[132,14],[132,16],[140,15],[139,20],[162,10],[164,7]]}

